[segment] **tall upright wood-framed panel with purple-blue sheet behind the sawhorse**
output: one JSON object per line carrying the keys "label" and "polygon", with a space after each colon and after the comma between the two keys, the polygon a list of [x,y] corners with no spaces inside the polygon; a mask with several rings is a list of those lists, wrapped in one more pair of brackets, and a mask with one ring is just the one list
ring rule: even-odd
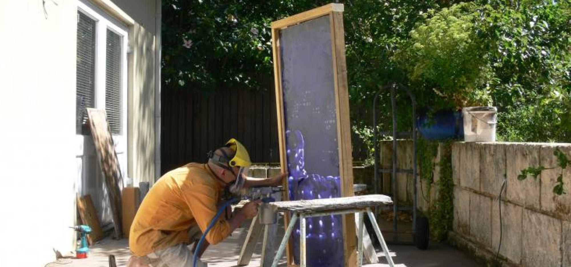
{"label": "tall upright wood-framed panel with purple-blue sheet behind the sawhorse", "polygon": [[[272,22],[286,200],[353,195],[342,11],[342,4],[332,3]],[[355,265],[353,215],[310,218],[308,225],[308,266]],[[297,229],[288,245],[289,264],[299,262]]]}

